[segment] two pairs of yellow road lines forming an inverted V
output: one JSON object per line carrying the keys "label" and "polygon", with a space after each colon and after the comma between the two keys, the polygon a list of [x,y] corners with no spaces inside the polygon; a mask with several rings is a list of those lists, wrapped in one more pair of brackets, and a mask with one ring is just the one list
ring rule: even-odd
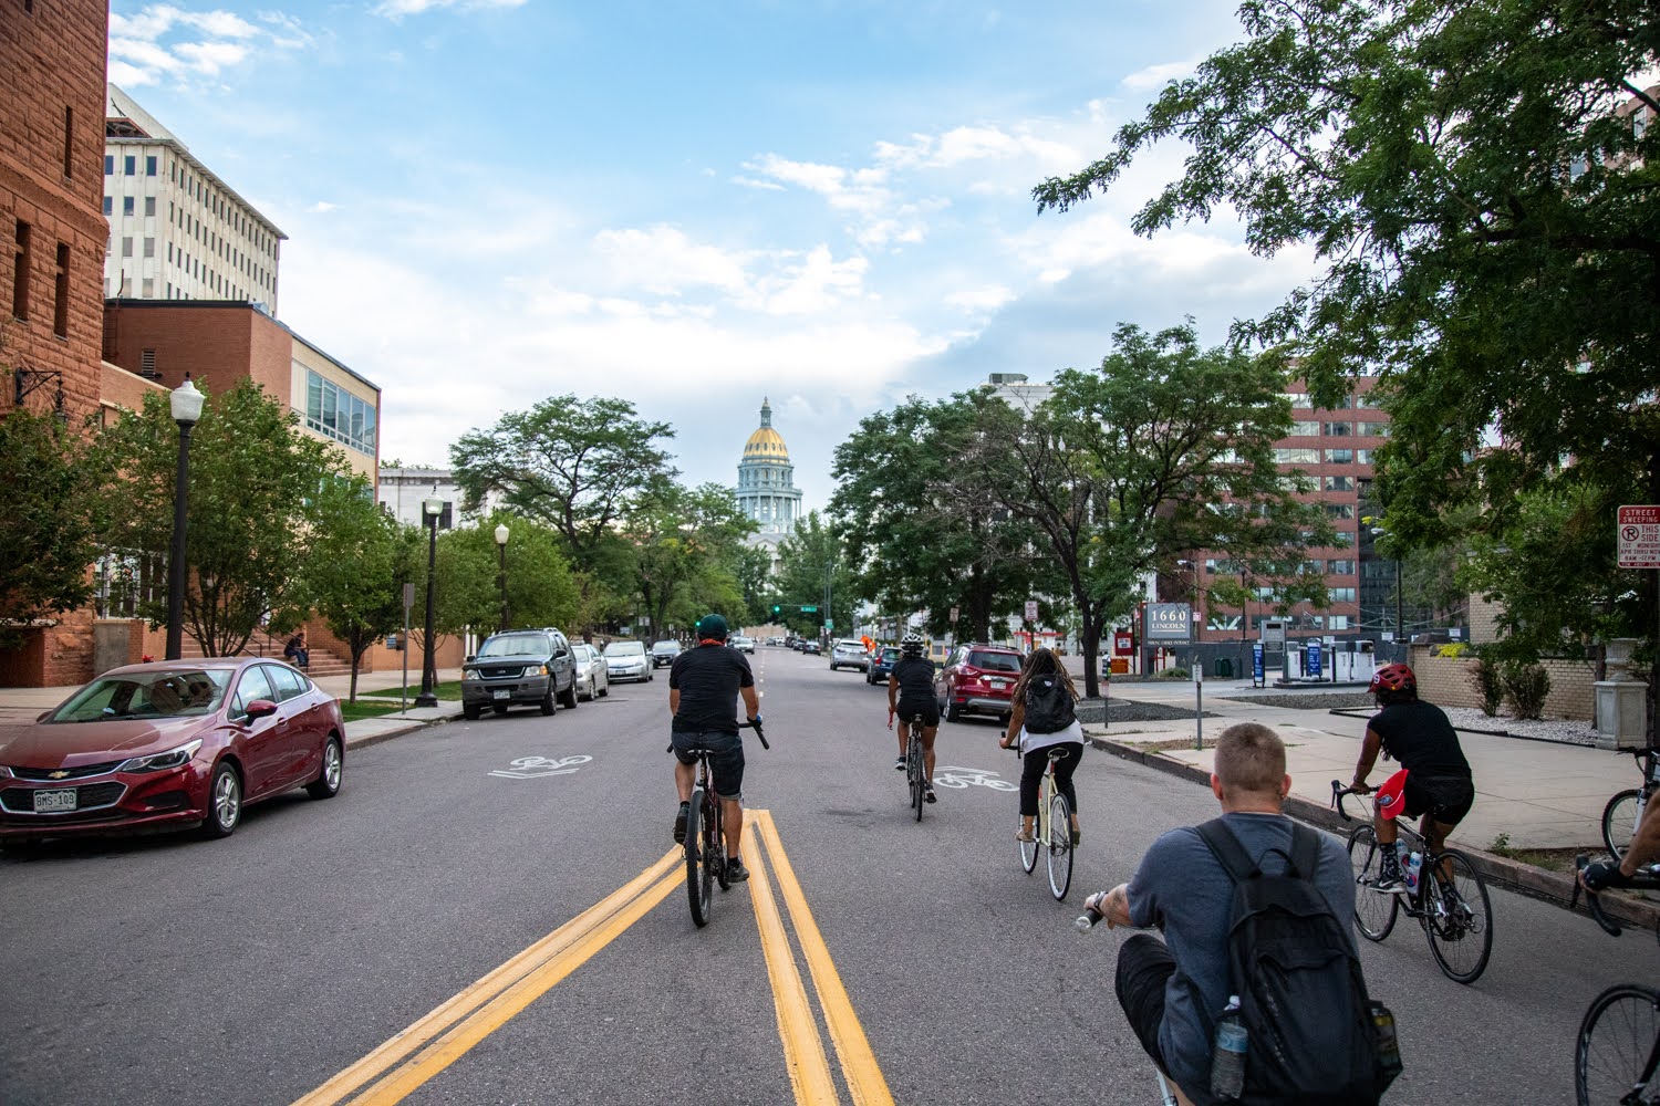
{"label": "two pairs of yellow road lines forming an inverted V", "polygon": [[[807,907],[772,814],[749,811],[747,822],[750,839],[765,846],[772,862],[853,1103],[891,1106],[893,1096]],[[755,856],[757,851],[750,849],[750,857]],[[347,1101],[352,1106],[392,1106],[403,1101],[662,902],[686,879],[682,861],[684,854],[671,849],[626,885],[402,1030],[294,1106],[337,1106]],[[772,880],[762,864],[752,864],[750,874],[750,899],[795,1101],[840,1103],[807,988],[774,899]],[[687,940],[704,939],[715,939],[715,934],[687,934]]]}

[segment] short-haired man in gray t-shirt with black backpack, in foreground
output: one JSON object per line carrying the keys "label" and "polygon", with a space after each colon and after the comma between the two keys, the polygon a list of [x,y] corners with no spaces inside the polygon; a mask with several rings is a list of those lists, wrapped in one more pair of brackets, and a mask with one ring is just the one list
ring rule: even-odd
{"label": "short-haired man in gray t-shirt with black backpack, in foreground", "polygon": [[[1278,735],[1228,726],[1210,776],[1222,817],[1162,834],[1129,884],[1084,902],[1109,925],[1164,930],[1124,942],[1116,992],[1195,1103],[1376,1103],[1388,1084],[1350,932],[1350,861],[1280,813],[1290,788]],[[1212,1055],[1232,997],[1247,1050],[1243,1094],[1230,1096],[1212,1093]]]}

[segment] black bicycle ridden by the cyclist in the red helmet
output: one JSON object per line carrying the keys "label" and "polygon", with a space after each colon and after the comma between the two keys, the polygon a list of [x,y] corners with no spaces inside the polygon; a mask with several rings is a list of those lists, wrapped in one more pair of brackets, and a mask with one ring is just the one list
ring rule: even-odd
{"label": "black bicycle ridden by the cyclist in the red helmet", "polygon": [[[1355,794],[1336,779],[1331,781],[1331,808],[1343,821],[1355,821],[1343,809],[1343,798]],[[1381,847],[1378,831],[1371,822],[1356,826],[1348,837],[1350,862],[1355,866],[1355,927],[1366,940],[1381,942],[1394,929],[1396,915],[1418,919],[1429,940],[1429,952],[1443,975],[1457,983],[1474,983],[1487,970],[1492,955],[1492,902],[1487,884],[1469,857],[1457,849],[1429,852],[1428,841],[1404,819],[1396,819],[1403,834],[1418,841],[1424,854],[1418,885],[1408,895],[1376,892]],[[1404,871],[1406,862],[1401,862]],[[1431,887],[1434,892],[1431,892]]]}

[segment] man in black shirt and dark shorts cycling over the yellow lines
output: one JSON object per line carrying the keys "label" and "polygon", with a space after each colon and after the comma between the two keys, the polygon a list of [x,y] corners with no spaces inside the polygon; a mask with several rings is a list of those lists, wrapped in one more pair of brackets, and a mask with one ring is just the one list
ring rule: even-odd
{"label": "man in black shirt and dark shorts cycling over the yellow lines", "polygon": [[697,620],[697,648],[686,650],[669,665],[669,713],[674,715],[669,741],[674,746],[674,788],[681,793],[674,842],[686,842],[696,749],[709,749],[710,788],[720,799],[727,842],[727,880],[742,882],[749,879],[737,851],[744,839],[744,741],[732,720],[737,718],[739,695],[749,720],[760,718],[760,698],[749,662],[744,653],[727,648],[725,638],[725,618],[704,615]]}

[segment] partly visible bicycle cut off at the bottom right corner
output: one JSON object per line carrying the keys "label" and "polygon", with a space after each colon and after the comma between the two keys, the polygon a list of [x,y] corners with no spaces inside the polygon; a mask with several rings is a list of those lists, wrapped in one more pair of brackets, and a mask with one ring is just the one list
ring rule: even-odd
{"label": "partly visible bicycle cut off at the bottom right corner", "polygon": [[[1580,856],[1575,871],[1585,869]],[[1660,889],[1660,864],[1640,871],[1628,887]],[[1582,890],[1574,879],[1572,909]],[[1585,890],[1585,905],[1597,925],[1610,937],[1620,935],[1620,924],[1604,914],[1597,892]],[[1660,934],[1655,934],[1660,937]],[[1660,990],[1642,983],[1615,983],[1590,1000],[1579,1038],[1574,1045],[1574,1093],[1579,1106],[1655,1103],[1655,1071],[1660,1068]]]}

